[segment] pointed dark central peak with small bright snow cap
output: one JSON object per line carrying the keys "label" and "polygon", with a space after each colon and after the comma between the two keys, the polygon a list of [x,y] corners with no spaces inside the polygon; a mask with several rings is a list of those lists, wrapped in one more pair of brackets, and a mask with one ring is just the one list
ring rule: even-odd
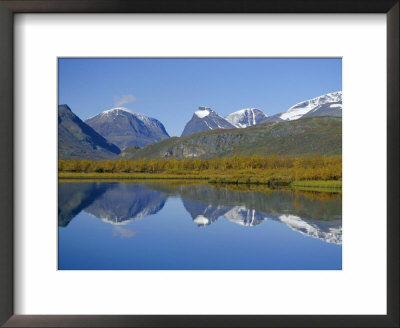
{"label": "pointed dark central peak with small bright snow cap", "polygon": [[234,125],[229,123],[223,117],[219,116],[217,112],[213,111],[209,107],[201,106],[194,112],[191,120],[183,129],[181,136],[186,137],[208,130],[234,128]]}

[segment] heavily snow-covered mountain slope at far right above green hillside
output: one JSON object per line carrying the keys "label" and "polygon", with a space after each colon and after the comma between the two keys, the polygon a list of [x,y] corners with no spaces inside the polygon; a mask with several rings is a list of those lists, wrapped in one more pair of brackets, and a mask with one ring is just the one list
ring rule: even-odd
{"label": "heavily snow-covered mountain slope at far right above green hillside", "polygon": [[342,114],[342,91],[328,93],[310,100],[302,101],[279,118],[284,121],[297,120],[301,117],[311,116],[341,116]]}

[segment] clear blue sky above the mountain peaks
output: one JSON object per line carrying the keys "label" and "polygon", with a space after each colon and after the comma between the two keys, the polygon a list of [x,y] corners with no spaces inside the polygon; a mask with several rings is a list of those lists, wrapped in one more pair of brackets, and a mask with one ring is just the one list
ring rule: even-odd
{"label": "clear blue sky above the mountain peaks", "polygon": [[199,106],[221,116],[255,107],[267,115],[342,90],[342,60],[60,58],[58,102],[82,120],[117,104],[180,136]]}

